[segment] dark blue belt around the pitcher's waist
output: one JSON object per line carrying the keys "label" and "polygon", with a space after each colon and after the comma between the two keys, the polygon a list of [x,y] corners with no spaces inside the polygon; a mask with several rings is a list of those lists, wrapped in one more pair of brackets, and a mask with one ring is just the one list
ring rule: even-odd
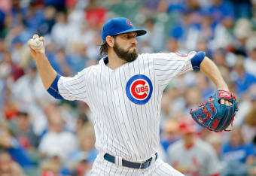
{"label": "dark blue belt around the pitcher's waist", "polygon": [[[155,160],[157,160],[157,153],[155,153],[155,156],[156,156]],[[114,162],[115,157],[111,156],[108,153],[105,153],[104,159],[106,159],[108,162],[115,163]],[[147,159],[145,162],[130,162],[125,159],[122,159],[122,165],[128,168],[139,168],[139,169],[148,168],[151,165],[152,159],[153,157]]]}

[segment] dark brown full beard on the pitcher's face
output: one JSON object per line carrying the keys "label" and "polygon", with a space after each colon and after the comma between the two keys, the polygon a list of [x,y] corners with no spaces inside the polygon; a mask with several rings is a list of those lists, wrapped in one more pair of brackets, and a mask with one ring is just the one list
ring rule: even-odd
{"label": "dark brown full beard on the pitcher's face", "polygon": [[[134,45],[131,47],[134,47]],[[114,42],[113,49],[114,49],[114,53],[116,53],[120,59],[126,62],[133,62],[134,60],[137,59],[139,53],[136,48],[133,49],[132,51],[129,51],[131,47],[129,47],[127,50],[123,50],[123,48],[121,48],[119,44],[117,44],[117,42]]]}

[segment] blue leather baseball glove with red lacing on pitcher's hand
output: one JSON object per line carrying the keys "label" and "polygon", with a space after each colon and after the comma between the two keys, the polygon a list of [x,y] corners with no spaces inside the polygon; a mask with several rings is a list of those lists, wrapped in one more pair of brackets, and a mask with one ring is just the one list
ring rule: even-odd
{"label": "blue leather baseball glove with red lacing on pitcher's hand", "polygon": [[[231,102],[232,105],[221,104],[221,99]],[[227,127],[233,122],[236,111],[238,111],[236,97],[230,92],[218,90],[199,108],[194,111],[191,109],[190,114],[200,126],[221,132],[227,131]]]}

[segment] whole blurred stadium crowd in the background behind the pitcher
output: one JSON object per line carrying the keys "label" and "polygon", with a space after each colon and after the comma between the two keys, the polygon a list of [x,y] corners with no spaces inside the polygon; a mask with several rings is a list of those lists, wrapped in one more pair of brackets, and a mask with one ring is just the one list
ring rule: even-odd
{"label": "whole blurred stadium crowd in the background behind the pitcher", "polygon": [[95,65],[102,25],[127,17],[148,34],[139,53],[206,51],[239,101],[230,132],[210,132],[190,109],[215,92],[200,72],[163,93],[160,157],[186,175],[256,175],[255,0],[0,1],[0,176],[85,175],[97,151],[90,108],[44,90],[26,42],[44,36],[63,76]]}

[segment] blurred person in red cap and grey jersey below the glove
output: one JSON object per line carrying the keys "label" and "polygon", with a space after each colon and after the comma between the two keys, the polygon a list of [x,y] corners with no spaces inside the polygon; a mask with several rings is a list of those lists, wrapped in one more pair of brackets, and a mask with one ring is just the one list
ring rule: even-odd
{"label": "blurred person in red cap and grey jersey below the glove", "polygon": [[221,165],[215,150],[196,137],[194,120],[181,119],[179,130],[182,139],[168,148],[169,163],[187,176],[219,175]]}

